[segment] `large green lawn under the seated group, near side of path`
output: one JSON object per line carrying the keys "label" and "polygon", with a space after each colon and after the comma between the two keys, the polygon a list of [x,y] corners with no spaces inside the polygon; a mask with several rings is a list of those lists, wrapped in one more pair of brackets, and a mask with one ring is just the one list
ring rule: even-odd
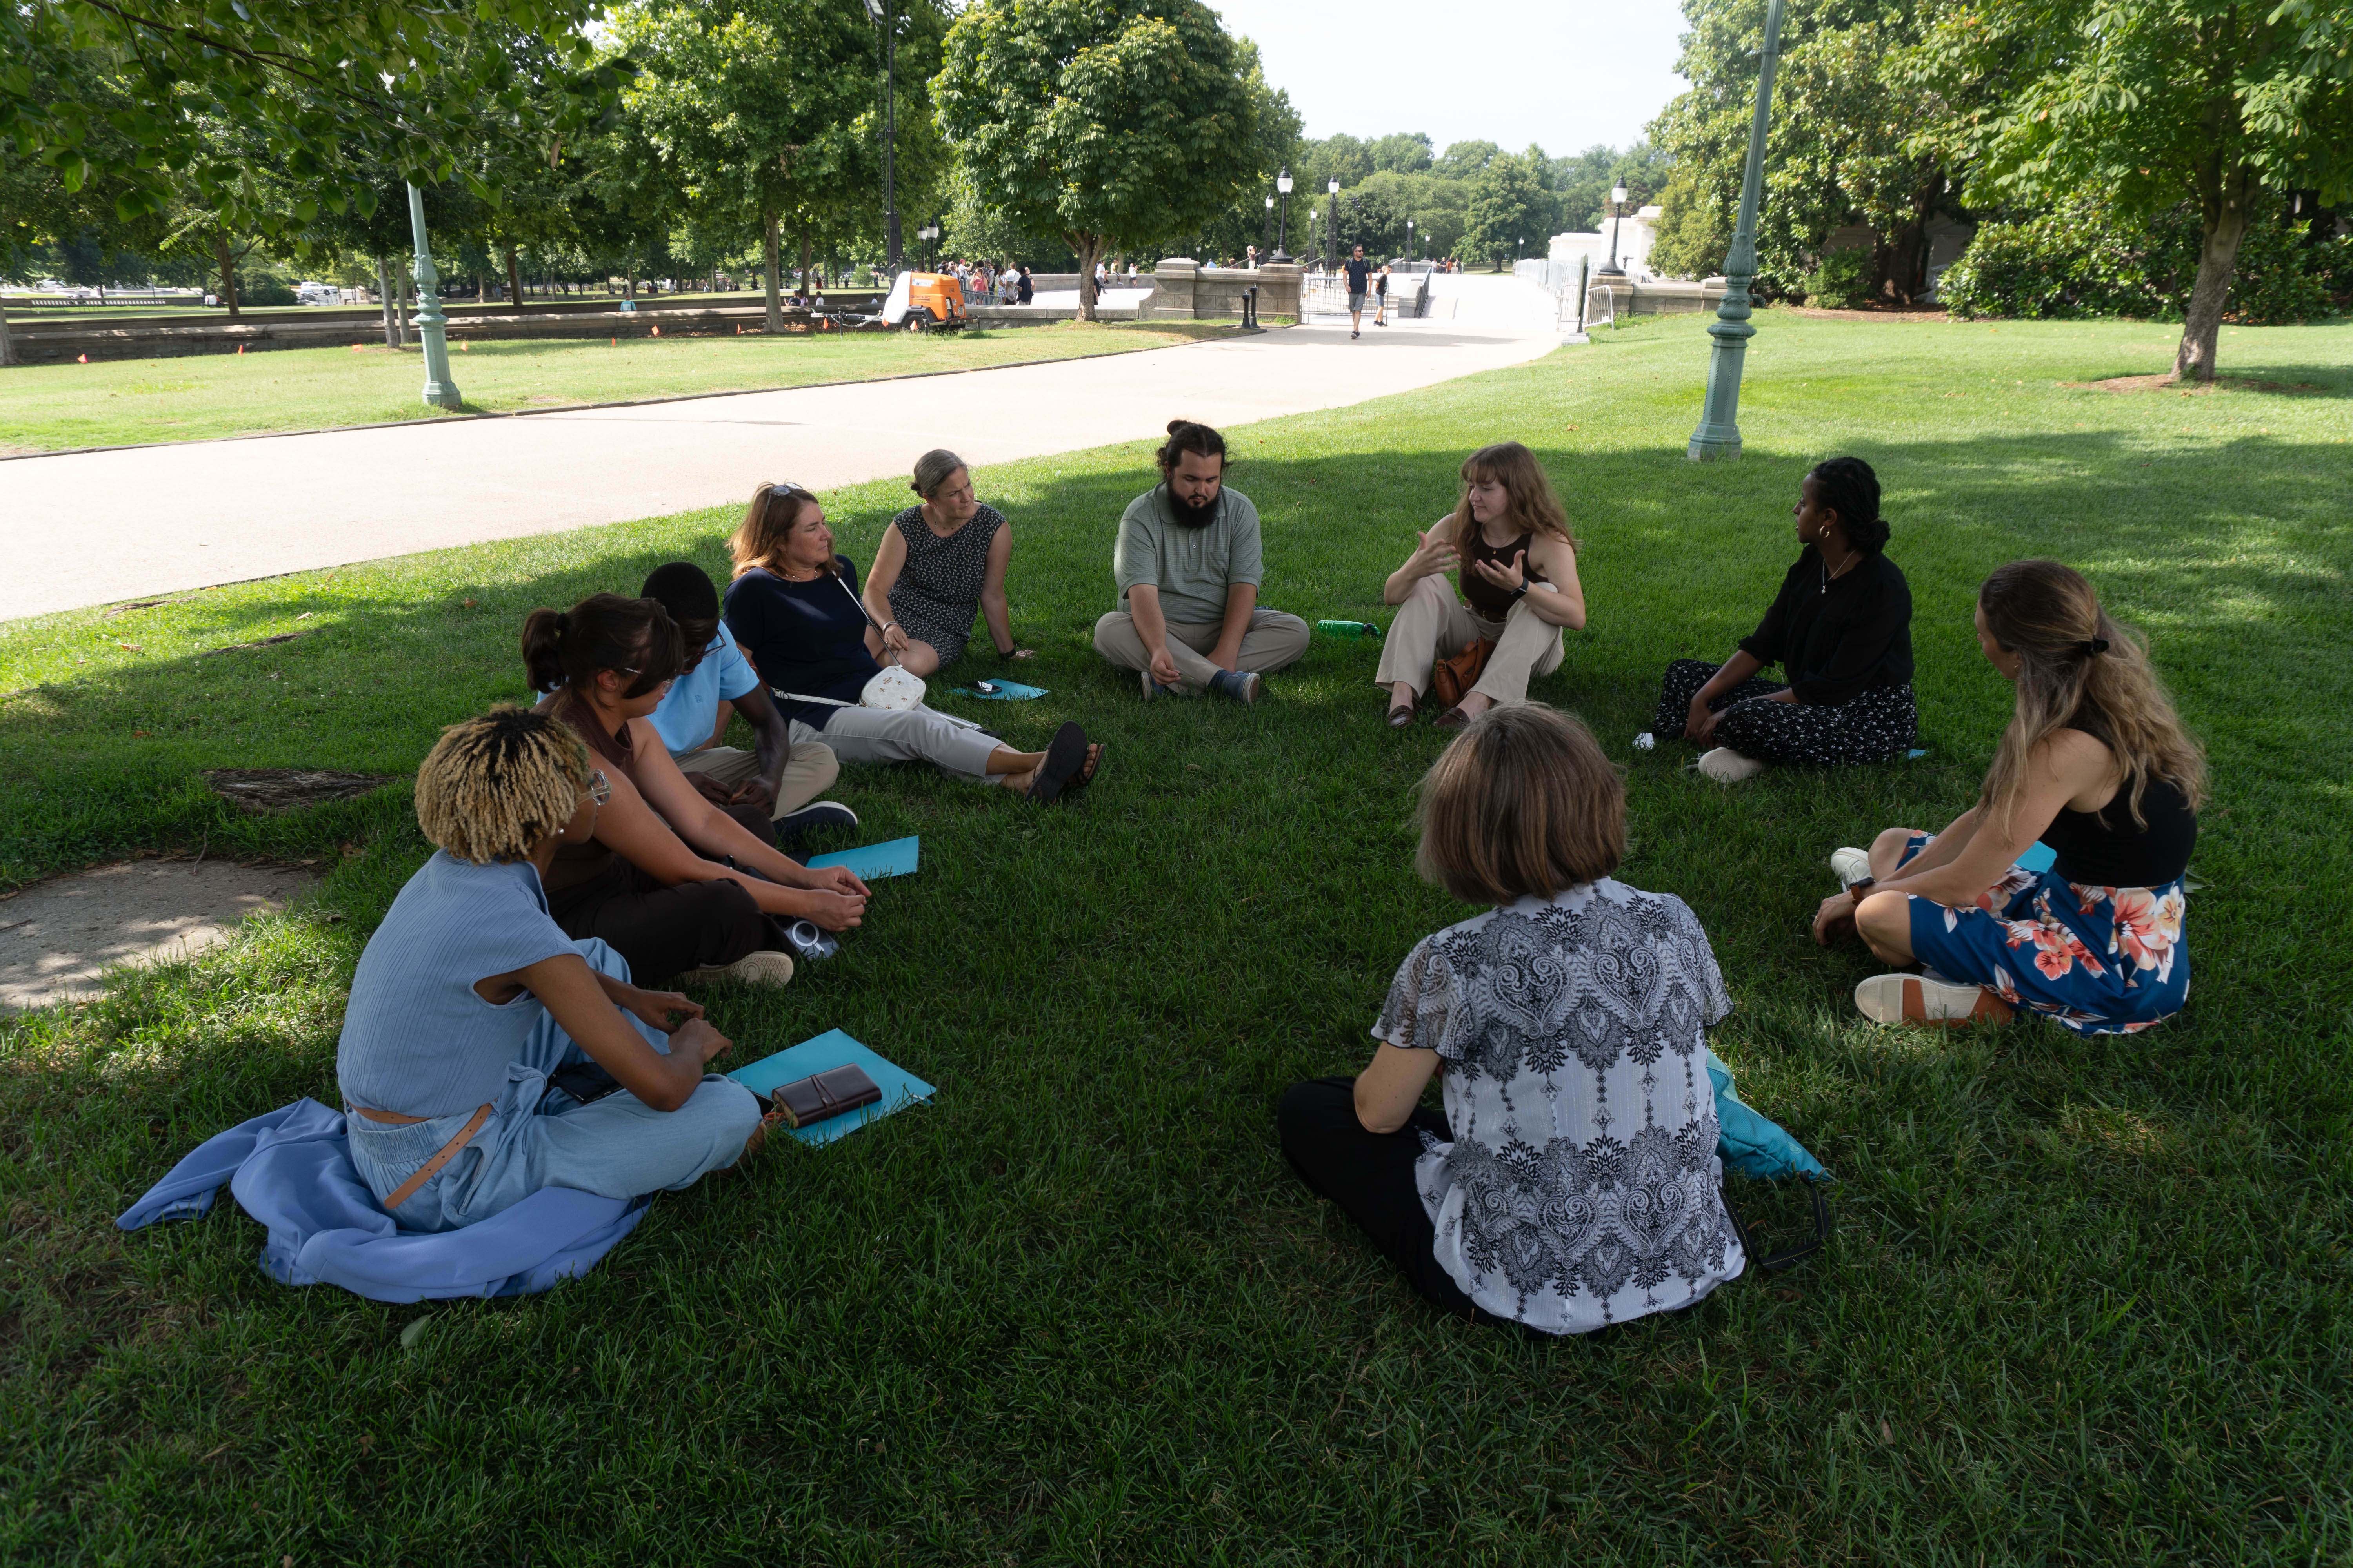
{"label": "large green lawn under the seated group, near side of path", "polygon": [[[720,510],[0,628],[0,884],[136,849],[322,858],[306,910],[0,1025],[0,1556],[108,1563],[2240,1563],[2353,1556],[2353,327],[2226,331],[2318,395],[2108,395],[2155,324],[1765,315],[1748,456],[1692,465],[1699,320],[1238,430],[1271,604],[1386,618],[1471,447],[1534,444],[1593,628],[1537,696],[1628,764],[1628,882],[1706,924],[1715,1048],[1838,1173],[1831,1251],[1600,1342],[1440,1321],[1287,1173],[1273,1103],[1353,1072],[1388,976],[1471,910],[1409,870],[1428,726],[1367,644],[1271,701],[1153,703],[1087,644],[1146,447],[984,470],[1054,693],[1111,743],[1071,809],[856,771],[920,832],[842,959],[713,992],[755,1058],[845,1027],[939,1103],[666,1197],[588,1279],[506,1302],[287,1291],[224,1206],[108,1218],[198,1140],[332,1098],[351,966],[426,846],[405,785],[254,820],[195,771],[409,771],[522,686],[534,604],[720,564]],[[480,350],[478,350],[480,353]],[[1871,458],[1918,597],[1913,764],[1741,790],[1633,755],[1659,668],[1722,656],[1805,465]],[[866,557],[899,505],[828,496]],[[2195,990],[2075,1039],[1866,1025],[1824,856],[1972,799],[2007,686],[1977,581],[2057,555],[2155,639],[2212,748]],[[259,651],[205,649],[315,635]],[[125,644],[134,644],[136,651]],[[946,682],[939,682],[946,684]],[[953,698],[946,698],[953,703]],[[974,705],[976,708],[976,705]],[[1734,1180],[1753,1222],[1798,1194]],[[412,1345],[405,1331],[421,1324]]]}

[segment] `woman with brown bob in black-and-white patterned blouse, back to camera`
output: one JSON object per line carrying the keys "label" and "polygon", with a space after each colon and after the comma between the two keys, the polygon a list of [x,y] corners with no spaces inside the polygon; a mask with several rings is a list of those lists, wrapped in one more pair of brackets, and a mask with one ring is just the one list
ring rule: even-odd
{"label": "woman with brown bob in black-and-white patterned blouse, back to camera", "polygon": [[1414,867],[1494,907],[1405,957],[1360,1077],[1275,1112],[1301,1180],[1442,1312],[1591,1333],[1748,1262],[1706,1072],[1732,1001],[1692,910],[1609,877],[1624,856],[1626,785],[1584,724],[1473,719],[1421,780]]}

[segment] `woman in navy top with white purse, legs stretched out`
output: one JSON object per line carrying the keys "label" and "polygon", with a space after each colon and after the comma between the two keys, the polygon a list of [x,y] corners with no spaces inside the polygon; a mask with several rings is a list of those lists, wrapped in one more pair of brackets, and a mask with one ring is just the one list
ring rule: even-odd
{"label": "woman in navy top with white purse, legs stretched out", "polygon": [[824,741],[842,762],[929,762],[1038,804],[1085,788],[1101,766],[1104,748],[1078,724],[1064,724],[1042,752],[1016,752],[929,708],[861,708],[866,684],[882,672],[882,630],[859,597],[859,569],[833,552],[826,508],[802,487],[755,489],[727,552],[736,564],[727,628],[776,693],[795,745]]}

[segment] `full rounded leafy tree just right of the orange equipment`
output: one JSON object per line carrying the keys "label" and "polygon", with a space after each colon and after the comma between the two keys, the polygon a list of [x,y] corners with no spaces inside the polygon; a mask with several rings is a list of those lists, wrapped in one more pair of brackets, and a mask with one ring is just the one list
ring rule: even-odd
{"label": "full rounded leafy tree just right of the orange equipment", "polygon": [[1200,0],[981,0],[946,40],[939,125],[988,202],[1080,261],[1191,235],[1259,179],[1249,59]]}

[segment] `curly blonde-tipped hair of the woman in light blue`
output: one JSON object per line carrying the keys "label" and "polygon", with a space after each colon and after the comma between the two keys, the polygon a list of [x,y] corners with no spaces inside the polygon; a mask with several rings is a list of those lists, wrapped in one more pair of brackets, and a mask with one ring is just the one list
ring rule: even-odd
{"label": "curly blonde-tipped hair of the woman in light blue", "polygon": [[572,820],[588,748],[544,712],[499,705],[442,731],[416,769],[416,825],[459,860],[522,860]]}

